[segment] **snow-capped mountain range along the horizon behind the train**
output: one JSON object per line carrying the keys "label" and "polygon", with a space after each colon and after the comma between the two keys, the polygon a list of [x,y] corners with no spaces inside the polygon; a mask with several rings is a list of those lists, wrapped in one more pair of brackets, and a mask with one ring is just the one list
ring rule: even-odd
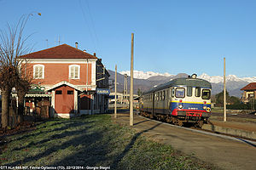
{"label": "snow-capped mountain range along the horizon behind the train", "polygon": [[[111,77],[114,79],[114,72],[109,71]],[[119,81],[119,91],[121,92],[124,87],[125,74],[128,75],[128,81],[130,81],[130,71],[121,71],[119,72],[118,81]],[[138,88],[142,91],[147,91],[149,88],[154,87],[154,85],[159,85],[164,82],[168,82],[174,78],[179,77],[188,77],[188,74],[179,73],[177,75],[172,75],[169,73],[158,73],[153,71],[134,71],[134,89],[135,93]],[[198,78],[207,80],[212,83],[212,94],[220,93],[224,88],[224,79],[222,76],[209,76],[206,73],[201,74]],[[256,77],[236,77],[236,75],[226,76],[226,88],[230,95],[236,97],[241,97],[242,91],[241,88],[245,87],[249,82],[256,82]],[[128,83],[129,87],[129,83]],[[129,89],[129,88],[128,88]]]}

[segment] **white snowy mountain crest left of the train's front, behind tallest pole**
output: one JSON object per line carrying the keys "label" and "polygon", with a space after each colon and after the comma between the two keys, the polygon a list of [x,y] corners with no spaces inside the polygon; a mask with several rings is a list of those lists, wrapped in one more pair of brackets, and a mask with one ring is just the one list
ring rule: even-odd
{"label": "white snowy mountain crest left of the train's front, behind tallest pole", "polygon": [[[131,75],[131,71],[121,71],[119,73],[122,74],[122,75],[127,74],[128,77],[130,77],[130,75]],[[161,73],[153,72],[153,71],[146,71],[146,72],[143,72],[143,71],[133,71],[133,77],[137,78],[137,79],[148,79],[149,77],[158,77],[158,76],[161,76],[161,77],[172,77],[174,75],[171,75],[171,74],[169,74],[167,72],[164,73],[164,74],[161,74]]]}

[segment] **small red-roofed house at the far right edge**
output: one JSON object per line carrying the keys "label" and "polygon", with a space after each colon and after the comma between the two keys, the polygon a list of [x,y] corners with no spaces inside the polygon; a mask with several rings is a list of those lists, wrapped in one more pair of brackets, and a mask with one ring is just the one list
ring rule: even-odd
{"label": "small red-roofed house at the far right edge", "polygon": [[243,90],[241,97],[243,103],[248,103],[250,99],[256,99],[256,82],[247,84],[247,86],[241,88],[241,90]]}

